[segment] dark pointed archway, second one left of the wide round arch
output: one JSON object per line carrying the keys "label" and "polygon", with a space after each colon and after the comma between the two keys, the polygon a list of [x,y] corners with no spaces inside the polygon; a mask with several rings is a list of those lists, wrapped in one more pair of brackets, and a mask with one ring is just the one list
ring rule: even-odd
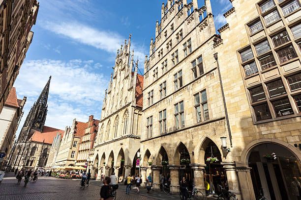
{"label": "dark pointed archway, second one left of the wide round arch", "polygon": [[190,168],[190,154],[187,150],[186,146],[183,143],[180,143],[178,145],[178,148],[176,150],[175,154],[175,164],[180,164],[181,168],[179,170],[179,181],[182,180],[183,177],[185,177],[188,187],[192,188],[193,184],[193,173]]}

